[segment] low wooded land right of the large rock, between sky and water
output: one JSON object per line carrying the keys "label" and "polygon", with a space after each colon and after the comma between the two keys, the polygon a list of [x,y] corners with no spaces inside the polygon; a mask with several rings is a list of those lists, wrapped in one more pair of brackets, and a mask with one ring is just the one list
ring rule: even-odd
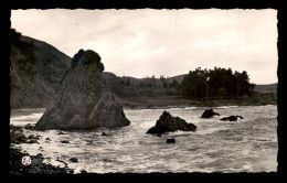
{"label": "low wooded land right of the large rock, between sky and water", "polygon": [[[103,73],[106,84],[116,95],[116,100],[124,107],[167,107],[167,106],[223,106],[223,105],[276,105],[277,87],[276,85],[262,86],[261,90],[268,88],[270,94],[256,90],[256,85],[251,84],[246,72],[234,72],[231,69],[216,68],[210,71],[210,85],[200,84],[194,73],[204,73],[200,68],[189,74],[156,78],[147,76],[146,78],[134,78],[127,76],[116,76],[113,73]],[[217,73],[216,73],[217,72]],[[208,71],[206,71],[208,73]],[[204,76],[204,75],[203,75]],[[228,77],[230,76],[230,77]],[[206,76],[205,76],[206,77]],[[219,79],[216,79],[216,77]],[[195,82],[198,79],[198,83]],[[213,82],[213,83],[211,83]],[[230,86],[227,85],[230,84]],[[189,87],[193,85],[194,89],[202,89],[195,95],[183,95],[188,93]],[[202,87],[196,87],[196,85]],[[195,87],[194,87],[195,86]],[[255,86],[255,89],[254,89]],[[192,88],[192,87],[191,87]],[[187,89],[187,90],[185,90]],[[227,94],[231,93],[231,94]],[[193,90],[193,94],[196,90]],[[208,96],[208,97],[206,97]]]}

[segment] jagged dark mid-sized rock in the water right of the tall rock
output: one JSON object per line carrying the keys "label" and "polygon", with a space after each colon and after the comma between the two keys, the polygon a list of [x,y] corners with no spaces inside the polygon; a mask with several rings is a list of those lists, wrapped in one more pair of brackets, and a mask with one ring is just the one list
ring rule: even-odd
{"label": "jagged dark mid-sized rock in the water right of the tall rock", "polygon": [[157,120],[155,127],[151,127],[147,133],[164,133],[172,132],[177,130],[182,131],[195,131],[196,126],[193,123],[188,123],[185,120],[179,117],[172,117],[168,111],[163,111],[160,118]]}

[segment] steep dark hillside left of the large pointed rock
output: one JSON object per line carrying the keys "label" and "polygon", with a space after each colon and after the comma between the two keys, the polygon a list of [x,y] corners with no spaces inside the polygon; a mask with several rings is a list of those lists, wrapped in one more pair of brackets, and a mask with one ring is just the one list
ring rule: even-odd
{"label": "steep dark hillside left of the large pointed rock", "polygon": [[71,68],[71,57],[52,45],[10,33],[11,108],[46,107]]}

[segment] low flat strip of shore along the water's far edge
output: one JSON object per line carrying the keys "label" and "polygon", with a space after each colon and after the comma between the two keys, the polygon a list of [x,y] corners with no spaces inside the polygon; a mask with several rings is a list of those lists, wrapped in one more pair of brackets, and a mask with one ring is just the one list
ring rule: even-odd
{"label": "low flat strip of shore along the water's far edge", "polygon": [[[125,109],[157,109],[157,108],[185,108],[185,107],[221,107],[221,106],[266,106],[277,105],[276,94],[258,94],[246,98],[232,99],[203,99],[196,100],[184,98],[181,96],[153,96],[153,97],[125,97],[119,98],[115,96],[115,100]],[[22,107],[11,108],[13,111],[18,110],[45,110],[45,107]]]}

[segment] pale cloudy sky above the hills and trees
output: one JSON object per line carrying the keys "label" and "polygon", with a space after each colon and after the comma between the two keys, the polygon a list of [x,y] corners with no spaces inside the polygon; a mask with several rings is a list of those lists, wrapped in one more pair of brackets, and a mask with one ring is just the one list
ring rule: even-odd
{"label": "pale cloudy sky above the hills and trees", "polygon": [[277,83],[277,10],[12,10],[11,28],[73,57],[97,52],[106,72],[172,77],[198,67]]}

